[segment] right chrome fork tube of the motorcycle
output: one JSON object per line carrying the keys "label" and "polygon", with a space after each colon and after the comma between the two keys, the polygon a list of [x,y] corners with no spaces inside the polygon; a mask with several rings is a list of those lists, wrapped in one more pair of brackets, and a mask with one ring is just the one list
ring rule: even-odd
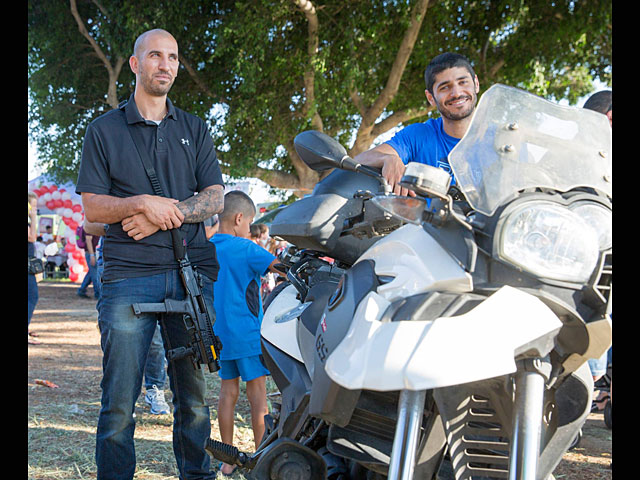
{"label": "right chrome fork tube of the motorcycle", "polygon": [[544,393],[550,368],[550,364],[540,358],[518,362],[509,451],[509,480],[537,478]]}

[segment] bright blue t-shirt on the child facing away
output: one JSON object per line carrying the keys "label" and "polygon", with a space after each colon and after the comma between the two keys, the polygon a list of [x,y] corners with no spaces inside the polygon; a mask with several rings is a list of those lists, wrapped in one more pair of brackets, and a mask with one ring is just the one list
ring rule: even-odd
{"label": "bright blue t-shirt on the child facing away", "polygon": [[213,331],[222,342],[220,358],[234,360],[262,353],[260,277],[276,258],[249,239],[216,233],[220,270],[213,284],[216,322]]}

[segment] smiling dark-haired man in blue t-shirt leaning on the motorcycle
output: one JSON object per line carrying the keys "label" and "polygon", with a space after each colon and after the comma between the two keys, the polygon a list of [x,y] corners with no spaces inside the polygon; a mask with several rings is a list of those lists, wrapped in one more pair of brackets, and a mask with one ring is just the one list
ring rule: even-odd
{"label": "smiling dark-haired man in blue t-shirt leaning on the motorcycle", "polygon": [[427,100],[441,116],[411,124],[388,142],[354,157],[363,165],[381,167],[396,195],[413,194],[398,184],[409,162],[425,163],[451,173],[447,157],[467,132],[478,100],[478,77],[462,55],[450,52],[438,55],[427,65],[424,77]]}

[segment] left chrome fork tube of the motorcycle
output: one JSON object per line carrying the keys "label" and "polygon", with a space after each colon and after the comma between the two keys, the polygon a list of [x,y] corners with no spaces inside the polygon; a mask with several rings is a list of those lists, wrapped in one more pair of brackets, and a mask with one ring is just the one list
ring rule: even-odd
{"label": "left chrome fork tube of the motorcycle", "polygon": [[398,400],[398,423],[389,459],[389,480],[410,480],[416,462],[416,451],[426,390],[402,390]]}

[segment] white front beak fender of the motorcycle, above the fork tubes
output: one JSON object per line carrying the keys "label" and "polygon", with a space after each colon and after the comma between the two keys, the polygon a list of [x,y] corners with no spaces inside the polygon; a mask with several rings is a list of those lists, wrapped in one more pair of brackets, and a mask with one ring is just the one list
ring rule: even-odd
{"label": "white front beak fender of the motorcycle, above the fork tubes", "polygon": [[506,375],[516,371],[516,352],[562,327],[539,299],[509,286],[452,317],[381,322],[389,305],[376,292],[360,303],[325,365],[334,382],[351,390],[417,391]]}

